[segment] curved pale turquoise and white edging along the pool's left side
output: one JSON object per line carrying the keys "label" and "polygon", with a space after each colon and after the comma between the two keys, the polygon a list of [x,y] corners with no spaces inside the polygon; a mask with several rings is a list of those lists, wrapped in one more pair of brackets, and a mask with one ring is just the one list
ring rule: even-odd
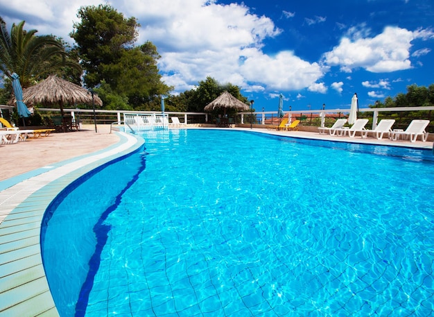
{"label": "curved pale turquoise and white edging along the pool's left side", "polygon": [[0,189],[0,315],[59,316],[42,266],[42,218],[71,182],[144,144],[140,137],[116,133],[121,140],[114,146],[12,178]]}

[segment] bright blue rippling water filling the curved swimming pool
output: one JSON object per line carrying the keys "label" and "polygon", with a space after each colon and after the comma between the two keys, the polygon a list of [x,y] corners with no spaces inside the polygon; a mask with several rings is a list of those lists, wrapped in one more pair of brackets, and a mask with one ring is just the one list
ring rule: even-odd
{"label": "bright blue rippling water filling the curved swimming pool", "polygon": [[144,135],[74,182],[42,251],[61,316],[433,316],[431,151]]}

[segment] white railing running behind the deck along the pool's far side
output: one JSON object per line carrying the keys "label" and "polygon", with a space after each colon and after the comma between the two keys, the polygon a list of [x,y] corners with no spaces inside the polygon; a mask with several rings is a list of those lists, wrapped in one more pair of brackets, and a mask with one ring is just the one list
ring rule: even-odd
{"label": "white railing running behind the deck along the pool's far side", "polygon": [[[397,108],[360,108],[357,116],[359,118],[370,119],[368,126],[372,124],[375,128],[379,119],[395,119],[396,128],[406,128],[412,119],[428,119],[434,121],[434,106],[428,107],[397,107]],[[59,114],[60,109],[40,108],[37,110],[46,114]],[[121,123],[121,118],[125,114],[152,115],[162,114],[157,111],[123,111],[123,110],[86,110],[86,109],[64,109],[71,116],[81,123],[110,124],[114,121]],[[95,117],[94,117],[95,113]],[[193,123],[216,123],[216,118],[205,112],[164,112],[170,117],[178,117],[180,122]],[[331,125],[333,121],[340,117],[348,117],[349,109],[330,109],[330,110],[293,110],[286,111],[291,119],[297,118],[302,122],[301,126],[325,126]],[[277,126],[279,124],[277,111],[266,112],[238,112],[234,115],[234,123],[254,124],[259,126]],[[428,132],[434,132],[434,125],[428,126]]]}

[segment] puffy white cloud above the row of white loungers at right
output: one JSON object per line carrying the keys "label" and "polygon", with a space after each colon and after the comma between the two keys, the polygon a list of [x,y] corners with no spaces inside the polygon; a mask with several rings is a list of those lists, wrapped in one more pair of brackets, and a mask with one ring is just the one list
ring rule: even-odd
{"label": "puffy white cloud above the row of white loungers at right", "polygon": [[405,28],[388,26],[383,33],[367,37],[369,29],[356,28],[343,37],[338,46],[324,54],[324,63],[339,66],[342,71],[351,72],[363,68],[373,73],[409,69],[412,41],[433,37],[429,30],[408,31]]}

